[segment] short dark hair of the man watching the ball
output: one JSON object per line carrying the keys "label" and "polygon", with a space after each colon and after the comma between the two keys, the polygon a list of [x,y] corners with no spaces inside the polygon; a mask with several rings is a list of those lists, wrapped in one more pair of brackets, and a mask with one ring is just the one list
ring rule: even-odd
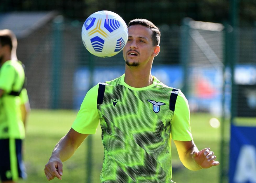
{"label": "short dark hair of the man watching the ball", "polygon": [[129,22],[128,27],[130,27],[132,25],[143,25],[145,27],[150,28],[153,31],[153,34],[151,36],[153,46],[160,44],[161,33],[160,33],[158,27],[155,26],[155,24],[153,24],[151,21],[149,21],[147,19],[134,19]]}

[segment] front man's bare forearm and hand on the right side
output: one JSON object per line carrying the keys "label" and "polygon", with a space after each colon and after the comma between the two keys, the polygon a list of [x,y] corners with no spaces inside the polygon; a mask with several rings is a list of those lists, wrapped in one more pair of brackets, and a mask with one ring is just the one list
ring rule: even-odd
{"label": "front man's bare forearm and hand on the right side", "polygon": [[193,140],[191,141],[177,141],[174,140],[177,147],[178,154],[183,165],[189,170],[200,170],[202,168],[210,168],[219,165],[215,161],[216,156],[210,151],[210,148],[205,148],[198,151]]}

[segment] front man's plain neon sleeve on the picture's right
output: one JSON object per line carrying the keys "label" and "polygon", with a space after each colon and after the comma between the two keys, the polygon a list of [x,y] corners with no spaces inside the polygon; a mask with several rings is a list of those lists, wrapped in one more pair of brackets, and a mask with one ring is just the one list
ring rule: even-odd
{"label": "front man's plain neon sleeve on the picture's right", "polygon": [[179,141],[193,140],[188,101],[181,91],[177,96],[174,115],[171,121],[171,138]]}

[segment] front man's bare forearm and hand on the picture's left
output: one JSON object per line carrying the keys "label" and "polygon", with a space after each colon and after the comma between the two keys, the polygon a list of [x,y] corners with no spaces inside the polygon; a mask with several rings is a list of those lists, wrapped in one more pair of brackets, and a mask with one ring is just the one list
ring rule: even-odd
{"label": "front man's bare forearm and hand on the picture's left", "polygon": [[45,165],[44,173],[48,180],[52,180],[55,177],[61,180],[62,176],[62,162],[69,159],[81,145],[88,134],[81,134],[73,130],[60,139],[55,148],[53,149],[52,155]]}

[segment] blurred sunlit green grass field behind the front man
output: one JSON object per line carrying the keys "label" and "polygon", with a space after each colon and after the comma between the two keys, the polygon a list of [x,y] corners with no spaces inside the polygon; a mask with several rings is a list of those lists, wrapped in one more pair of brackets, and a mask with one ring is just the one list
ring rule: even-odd
{"label": "blurred sunlit green grass field behind the front man", "polygon": [[[27,137],[24,141],[24,160],[27,168],[27,180],[19,183],[45,183],[44,166],[48,162],[51,151],[70,129],[76,117],[76,111],[68,110],[32,110],[27,125]],[[191,128],[199,150],[210,147],[219,157],[220,128],[212,128],[209,114],[191,114]],[[92,135],[93,138],[93,167],[86,167],[86,140],[76,153],[63,165],[62,180],[54,179],[50,182],[86,183],[86,170],[92,169],[93,180],[99,183],[99,175],[103,161],[103,145],[101,143],[101,129]],[[219,167],[212,167],[200,171],[190,171],[180,162],[172,143],[173,180],[177,183],[217,183],[219,182]]]}

